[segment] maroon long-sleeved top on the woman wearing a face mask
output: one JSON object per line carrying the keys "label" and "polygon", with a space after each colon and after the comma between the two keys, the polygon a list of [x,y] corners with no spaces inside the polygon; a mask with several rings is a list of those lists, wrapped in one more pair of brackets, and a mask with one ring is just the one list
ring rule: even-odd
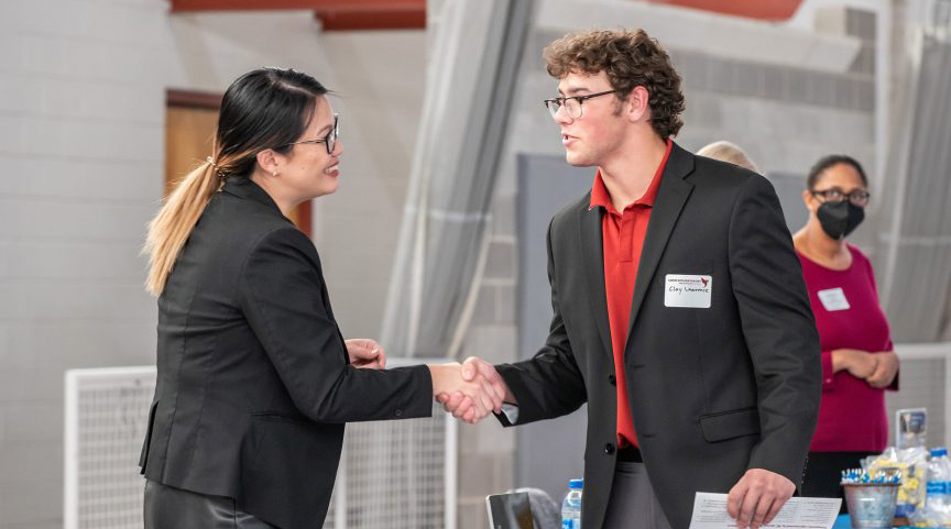
{"label": "maroon long-sleeved top on the woman wearing a face mask", "polygon": [[[888,442],[885,390],[846,370],[832,373],[832,351],[892,351],[872,264],[849,244],[852,265],[834,271],[797,252],[822,344],[822,401],[812,452],[881,452]],[[889,389],[898,388],[898,376]]]}

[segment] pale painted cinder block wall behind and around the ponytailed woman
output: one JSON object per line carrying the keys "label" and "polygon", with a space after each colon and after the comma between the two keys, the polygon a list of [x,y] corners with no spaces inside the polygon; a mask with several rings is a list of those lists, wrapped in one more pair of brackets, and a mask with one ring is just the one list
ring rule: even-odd
{"label": "pale painted cinder block wall behind and around the ponytailed woman", "polygon": [[315,242],[341,328],[374,337],[425,38],[327,35],[306,11],[0,2],[0,529],[62,527],[64,372],[154,362],[155,301],[139,249],[162,194],[166,88],[223,92],[274,65],[339,93],[341,188],[315,205]]}

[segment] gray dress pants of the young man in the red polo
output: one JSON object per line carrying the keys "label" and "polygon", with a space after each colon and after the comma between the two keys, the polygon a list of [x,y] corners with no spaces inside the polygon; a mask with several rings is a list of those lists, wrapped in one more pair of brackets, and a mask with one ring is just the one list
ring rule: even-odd
{"label": "gray dress pants of the young man in the red polo", "polygon": [[608,502],[604,529],[670,529],[644,463],[619,461]]}

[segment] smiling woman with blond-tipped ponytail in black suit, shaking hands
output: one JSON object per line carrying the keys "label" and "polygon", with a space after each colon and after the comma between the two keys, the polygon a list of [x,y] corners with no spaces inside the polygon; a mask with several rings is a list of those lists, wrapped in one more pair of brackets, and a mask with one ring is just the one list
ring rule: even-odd
{"label": "smiling woman with blond-tipped ponytail in black suit, shaking hands", "polygon": [[[459,364],[382,367],[343,340],[320,258],[287,213],[337,190],[337,115],[317,80],[262,68],[225,93],[214,154],[149,228],[158,377],[140,465],[145,527],[320,527],[343,423],[428,417]],[[362,346],[368,345],[369,346]],[[357,365],[354,365],[357,364]]]}

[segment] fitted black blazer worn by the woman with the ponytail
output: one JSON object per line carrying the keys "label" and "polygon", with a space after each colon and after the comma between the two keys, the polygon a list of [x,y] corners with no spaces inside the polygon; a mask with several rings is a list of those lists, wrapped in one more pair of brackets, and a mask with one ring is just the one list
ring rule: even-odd
{"label": "fitted black blazer worn by the woman with the ponytail", "polygon": [[230,179],[158,298],[142,473],[282,529],[320,527],[343,423],[433,410],[425,366],[348,364],[314,244],[258,185]]}

